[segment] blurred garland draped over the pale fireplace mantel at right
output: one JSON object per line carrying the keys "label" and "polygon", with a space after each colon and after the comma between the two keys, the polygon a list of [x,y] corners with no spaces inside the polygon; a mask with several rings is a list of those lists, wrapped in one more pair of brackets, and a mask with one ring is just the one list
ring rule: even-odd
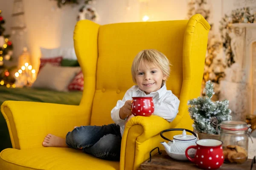
{"label": "blurred garland draped over the pale fireplace mantel at right", "polygon": [[221,32],[221,39],[223,43],[223,48],[226,54],[226,64],[230,67],[234,61],[234,54],[230,46],[231,38],[229,36],[232,30],[233,23],[256,23],[256,12],[252,14],[250,8],[238,8],[231,12],[230,15],[225,14],[225,16],[220,21],[221,26],[219,28]]}

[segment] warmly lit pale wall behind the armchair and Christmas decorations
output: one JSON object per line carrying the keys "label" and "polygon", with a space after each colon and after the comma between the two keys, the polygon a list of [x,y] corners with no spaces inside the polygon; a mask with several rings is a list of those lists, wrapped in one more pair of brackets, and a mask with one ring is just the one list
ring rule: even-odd
{"label": "warmly lit pale wall behind the armchair and Christmas decorations", "polygon": [[[83,1],[83,0],[82,0]],[[187,15],[189,0],[96,0],[93,6],[99,14],[99,24],[139,22],[147,14],[149,21],[183,20]],[[247,0],[208,0],[211,6],[209,22],[214,23],[214,31],[218,33],[219,20],[224,13],[242,7]],[[251,1],[251,0],[248,0]],[[6,19],[6,33],[11,33],[11,12],[14,0],[0,0],[0,9]],[[223,4],[223,6],[221,5]],[[23,46],[27,46],[32,55],[32,65],[38,68],[40,47],[55,48],[73,46],[73,30],[80,6],[64,6],[58,9],[54,0],[23,0],[27,32],[23,40],[13,36],[14,57],[21,54]],[[130,7],[128,10],[127,7]],[[15,62],[14,62],[15,63]]]}

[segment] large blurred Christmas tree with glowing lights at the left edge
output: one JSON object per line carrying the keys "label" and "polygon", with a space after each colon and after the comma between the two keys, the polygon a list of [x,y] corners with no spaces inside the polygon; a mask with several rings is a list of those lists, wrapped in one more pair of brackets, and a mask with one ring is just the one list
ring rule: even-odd
{"label": "large blurred Christmas tree with glowing lights at the left edge", "polygon": [[14,87],[15,78],[10,74],[13,68],[7,68],[4,61],[12,59],[12,41],[9,40],[9,35],[4,34],[5,28],[3,24],[5,23],[4,18],[1,15],[0,10],[0,85],[6,85],[6,87]]}

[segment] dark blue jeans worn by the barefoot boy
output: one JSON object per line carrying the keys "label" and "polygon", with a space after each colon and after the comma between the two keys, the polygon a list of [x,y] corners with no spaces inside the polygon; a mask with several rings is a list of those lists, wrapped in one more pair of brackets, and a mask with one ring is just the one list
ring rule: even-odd
{"label": "dark blue jeans worn by the barefoot boy", "polygon": [[120,160],[122,136],[116,124],[80,126],[67,133],[68,147],[82,150],[100,159]]}

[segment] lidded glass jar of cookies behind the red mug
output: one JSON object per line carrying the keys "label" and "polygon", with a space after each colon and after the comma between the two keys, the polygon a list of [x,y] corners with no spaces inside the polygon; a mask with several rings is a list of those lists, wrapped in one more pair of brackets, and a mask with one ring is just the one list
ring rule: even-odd
{"label": "lidded glass jar of cookies behind the red mug", "polygon": [[220,127],[220,140],[223,142],[223,155],[225,162],[242,164],[248,157],[248,136],[251,129],[246,122],[224,121]]}

